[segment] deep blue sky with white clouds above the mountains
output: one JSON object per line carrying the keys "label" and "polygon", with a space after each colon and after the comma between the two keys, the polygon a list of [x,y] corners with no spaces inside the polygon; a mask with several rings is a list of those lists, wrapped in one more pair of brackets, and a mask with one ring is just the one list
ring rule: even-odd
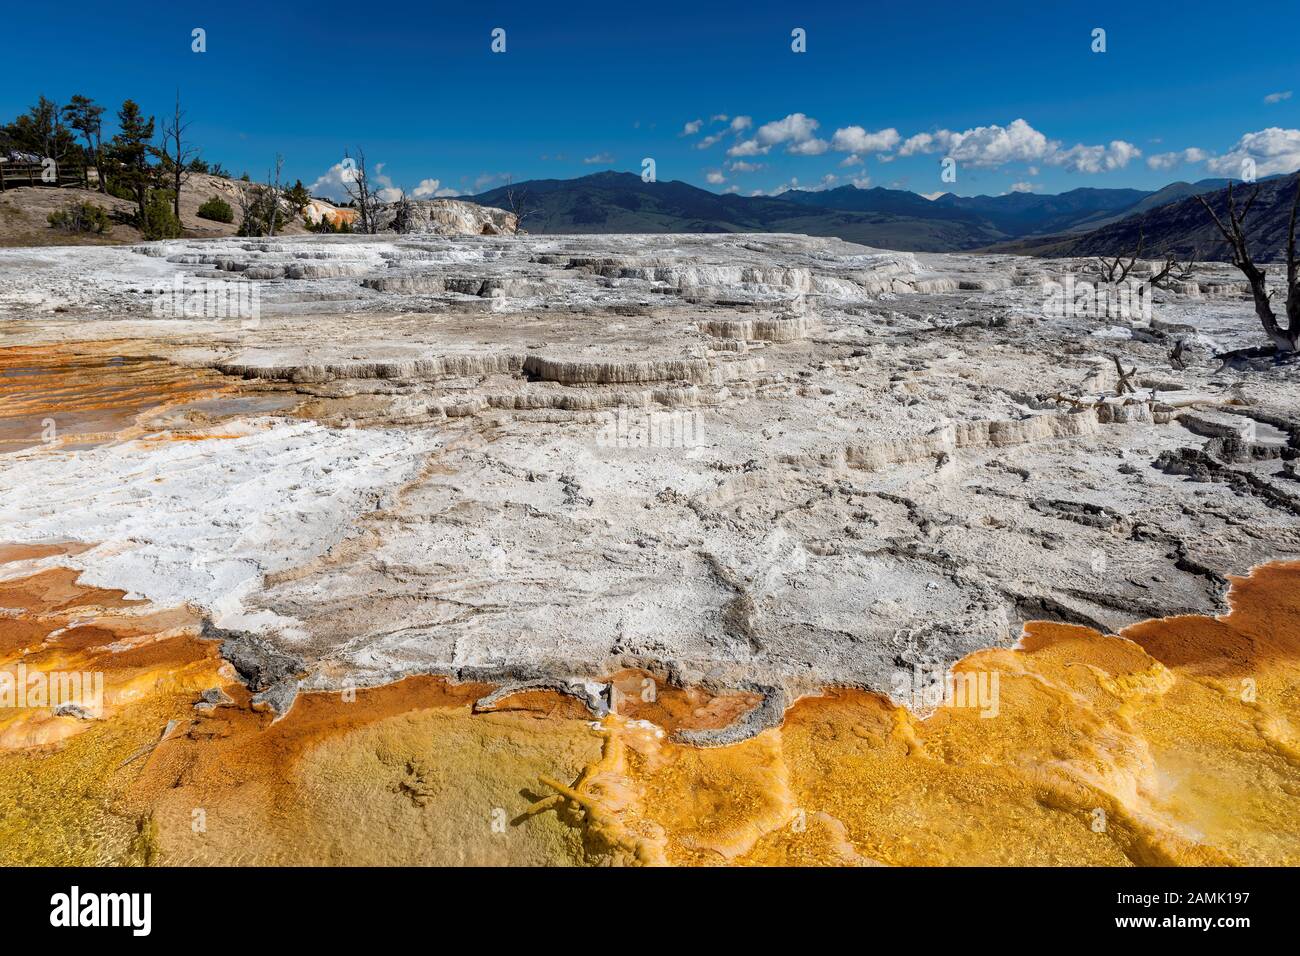
{"label": "deep blue sky with white clouds above the mountains", "polygon": [[[792,181],[1156,189],[1239,176],[1245,157],[1260,174],[1300,166],[1295,0],[1180,0],[1176,13],[1072,0],[129,9],[12,5],[0,117],[78,92],[162,114],[179,87],[208,160],[259,178],[281,152],[291,179],[322,193],[356,144],[421,195],[640,172],[647,156],[660,179],[741,195]],[[954,183],[940,179],[945,156]]]}

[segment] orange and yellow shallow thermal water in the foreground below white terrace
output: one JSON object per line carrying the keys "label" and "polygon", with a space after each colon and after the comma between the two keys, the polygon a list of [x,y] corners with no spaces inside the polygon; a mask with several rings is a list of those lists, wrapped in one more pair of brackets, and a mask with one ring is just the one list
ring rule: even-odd
{"label": "orange and yellow shallow thermal water in the foreground below white terrace", "polygon": [[[598,723],[540,692],[473,713],[486,685],[437,678],[272,723],[196,620],[46,571],[0,583],[3,666],[109,689],[99,721],[0,724],[0,862],[1295,865],[1300,564],[1230,597],[1222,619],[1035,623],[971,654],[956,670],[998,675],[996,717],[828,691],[699,749],[671,731],[751,701],[645,702],[636,674]],[[196,713],[213,685],[234,704]]]}

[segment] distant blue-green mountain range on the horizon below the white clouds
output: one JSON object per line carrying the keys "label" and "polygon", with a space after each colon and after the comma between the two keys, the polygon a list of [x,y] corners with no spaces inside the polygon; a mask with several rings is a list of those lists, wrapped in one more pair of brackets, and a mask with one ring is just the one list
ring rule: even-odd
{"label": "distant blue-green mountain range on the horizon below the white clouds", "polygon": [[930,200],[881,186],[790,190],[777,196],[716,194],[680,181],[644,182],[603,172],[576,179],[530,179],[468,199],[508,207],[524,196],[533,233],[805,233],[916,252],[968,251],[1028,237],[1086,232],[1221,187],[1175,182],[1157,191],[1083,187],[1058,195],[1008,193]]}

